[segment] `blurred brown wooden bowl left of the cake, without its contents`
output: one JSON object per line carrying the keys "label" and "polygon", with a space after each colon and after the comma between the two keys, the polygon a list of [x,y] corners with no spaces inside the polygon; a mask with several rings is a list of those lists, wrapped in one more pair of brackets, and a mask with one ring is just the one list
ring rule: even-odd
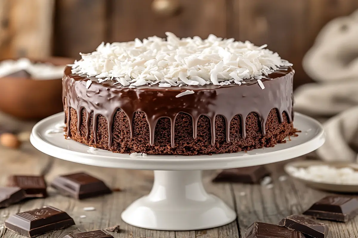
{"label": "blurred brown wooden bowl left of the cake, without its contents", "polygon": [[[31,60],[58,66],[73,63],[72,59],[62,57]],[[39,120],[63,111],[62,79],[2,77],[0,84],[0,111],[23,120]]]}

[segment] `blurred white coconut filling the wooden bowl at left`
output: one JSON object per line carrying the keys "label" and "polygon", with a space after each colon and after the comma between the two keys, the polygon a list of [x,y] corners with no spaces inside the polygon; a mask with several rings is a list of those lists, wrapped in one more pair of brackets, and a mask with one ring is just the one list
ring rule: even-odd
{"label": "blurred white coconut filling the wooden bowl at left", "polygon": [[25,70],[35,80],[61,79],[66,65],[56,66],[50,63],[34,63],[27,58],[3,60],[0,62],[0,77]]}

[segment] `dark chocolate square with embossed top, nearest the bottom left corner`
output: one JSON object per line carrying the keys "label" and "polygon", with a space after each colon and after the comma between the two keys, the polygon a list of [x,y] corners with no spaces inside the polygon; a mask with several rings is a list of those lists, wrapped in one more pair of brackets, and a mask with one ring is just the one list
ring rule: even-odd
{"label": "dark chocolate square with embossed top, nearest the bottom left corner", "polygon": [[39,236],[72,225],[74,221],[66,212],[50,206],[21,212],[5,221],[6,228],[28,237]]}

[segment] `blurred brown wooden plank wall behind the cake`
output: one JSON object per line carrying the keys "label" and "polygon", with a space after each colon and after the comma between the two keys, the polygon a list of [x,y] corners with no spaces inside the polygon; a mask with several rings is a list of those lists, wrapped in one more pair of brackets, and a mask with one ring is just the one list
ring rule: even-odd
{"label": "blurred brown wooden plank wall behind the cake", "polygon": [[[45,9],[43,6],[50,7],[48,2],[52,1],[55,2],[53,21],[49,19],[52,15],[46,14],[51,11],[41,10]],[[176,3],[179,9],[175,14],[158,14],[153,10],[153,1]],[[39,9],[35,14],[37,22],[47,24],[34,24],[31,19],[26,21],[21,14],[25,14],[26,9],[30,9],[28,12],[35,10],[29,6],[22,7],[25,10],[20,12],[20,17],[17,16],[17,21],[22,19],[17,32],[30,34],[31,27],[27,27],[26,22],[32,24],[32,29],[45,32],[39,39],[49,39],[45,35],[51,31],[52,54],[55,56],[78,58],[79,52],[92,52],[102,41],[129,41],[152,35],[164,37],[165,31],[172,31],[179,37],[199,35],[206,38],[212,33],[236,40],[250,40],[257,45],[268,44],[269,49],[294,64],[296,86],[310,81],[301,61],[321,27],[334,17],[358,9],[358,0],[0,0],[0,8],[4,2],[42,4],[42,7],[32,9]],[[29,15],[34,17],[34,14]],[[10,23],[13,21],[16,19],[11,18]],[[2,33],[6,33],[1,29],[6,26],[6,21],[1,23],[0,41]],[[49,24],[52,29],[46,31]],[[38,29],[40,26],[42,28]],[[21,39],[26,42],[26,39],[33,39],[33,35]],[[8,42],[14,44],[16,40],[8,39]],[[37,46],[43,45],[44,50],[41,47],[21,50],[21,45],[20,49],[14,50],[11,45],[5,49],[11,51],[12,57],[51,53],[46,42],[38,43]],[[28,44],[34,42],[28,41]],[[1,45],[0,54],[4,56]]]}

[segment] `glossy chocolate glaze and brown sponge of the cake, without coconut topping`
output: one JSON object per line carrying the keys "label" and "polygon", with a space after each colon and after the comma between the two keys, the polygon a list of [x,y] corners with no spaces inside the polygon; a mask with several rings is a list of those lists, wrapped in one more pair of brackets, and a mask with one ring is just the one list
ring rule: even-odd
{"label": "glossy chocolate glaze and brown sponge of the cake, without coconut topping", "polygon": [[[293,130],[291,67],[243,85],[136,88],[63,78],[67,137],[117,153],[201,155],[272,147]],[[87,80],[91,85],[86,88]],[[185,90],[194,93],[175,97]],[[243,123],[245,122],[245,123]]]}

